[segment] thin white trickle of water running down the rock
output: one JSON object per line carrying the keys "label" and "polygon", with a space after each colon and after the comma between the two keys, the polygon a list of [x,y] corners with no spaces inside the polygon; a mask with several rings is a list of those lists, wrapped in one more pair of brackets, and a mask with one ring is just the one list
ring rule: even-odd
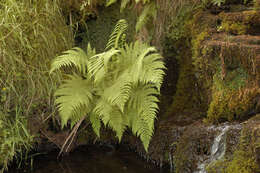
{"label": "thin white trickle of water running down the rock", "polygon": [[215,137],[214,143],[211,147],[211,152],[210,152],[210,158],[205,160],[203,163],[200,163],[198,165],[198,171],[194,173],[207,173],[206,165],[213,163],[216,160],[221,159],[226,152],[226,141],[225,141],[225,134],[229,129],[229,125],[223,126],[221,128],[221,133]]}

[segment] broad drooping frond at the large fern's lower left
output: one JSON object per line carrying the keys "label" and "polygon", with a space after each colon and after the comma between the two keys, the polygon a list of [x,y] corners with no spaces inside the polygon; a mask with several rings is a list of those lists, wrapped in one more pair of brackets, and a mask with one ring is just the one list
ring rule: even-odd
{"label": "broad drooping frond at the large fern's lower left", "polygon": [[[81,110],[85,107],[89,108],[93,98],[91,81],[82,79],[82,77],[76,74],[68,75],[68,78],[55,92],[57,97],[55,103],[58,105],[62,127],[72,117],[79,120],[85,116],[87,112],[82,112]],[[87,109],[84,110],[86,111]]]}

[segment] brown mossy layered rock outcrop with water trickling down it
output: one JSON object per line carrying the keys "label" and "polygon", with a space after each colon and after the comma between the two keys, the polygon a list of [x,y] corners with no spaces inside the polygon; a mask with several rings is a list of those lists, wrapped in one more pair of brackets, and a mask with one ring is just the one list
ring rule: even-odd
{"label": "brown mossy layered rock outcrop with water trickling down it", "polygon": [[172,105],[147,154],[135,138],[129,140],[144,158],[173,165],[177,173],[260,171],[257,2],[228,1],[223,10],[197,10],[184,22],[186,35],[173,43],[180,58]]}

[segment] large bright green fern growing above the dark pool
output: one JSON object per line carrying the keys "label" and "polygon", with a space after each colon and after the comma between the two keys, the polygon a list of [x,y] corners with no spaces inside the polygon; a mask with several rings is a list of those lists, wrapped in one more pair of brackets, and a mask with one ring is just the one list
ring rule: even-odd
{"label": "large bright green fern growing above the dark pool", "polygon": [[125,43],[126,27],[125,20],[117,23],[106,51],[96,54],[90,45],[86,52],[73,48],[55,58],[50,71],[75,67],[55,93],[62,127],[69,120],[73,127],[85,118],[97,136],[103,123],[119,141],[131,128],[147,151],[165,66],[154,47],[139,41]]}

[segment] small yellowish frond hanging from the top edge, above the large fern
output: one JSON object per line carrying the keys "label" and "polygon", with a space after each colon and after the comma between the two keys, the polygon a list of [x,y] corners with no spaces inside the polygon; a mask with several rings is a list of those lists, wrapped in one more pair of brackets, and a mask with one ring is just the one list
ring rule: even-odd
{"label": "small yellowish frond hanging from the top edge, above the large fern", "polygon": [[151,2],[145,5],[144,10],[141,15],[137,19],[137,23],[135,26],[136,32],[140,31],[140,29],[151,19],[155,18],[157,15],[156,4],[155,2]]}

